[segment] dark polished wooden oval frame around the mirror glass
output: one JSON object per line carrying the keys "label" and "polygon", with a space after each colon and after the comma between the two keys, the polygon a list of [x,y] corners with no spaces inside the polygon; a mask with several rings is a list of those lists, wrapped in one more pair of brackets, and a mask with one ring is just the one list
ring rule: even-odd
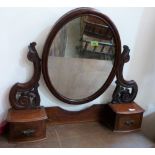
{"label": "dark polished wooden oval frame around the mirror glass", "polygon": [[[113,36],[114,36],[114,41],[115,41],[115,60],[114,60],[114,64],[113,64],[113,68],[109,74],[109,77],[107,78],[106,82],[102,85],[102,87],[96,91],[94,94],[92,94],[89,97],[83,98],[83,99],[70,99],[67,98],[63,95],[61,95],[52,85],[52,82],[49,78],[49,74],[48,74],[48,54],[49,54],[49,50],[51,47],[51,44],[57,34],[57,32],[68,22],[70,22],[71,20],[78,18],[82,15],[92,15],[92,16],[96,16],[97,18],[99,18],[100,20],[104,21],[111,29]],[[99,97],[101,94],[103,94],[105,92],[105,90],[109,87],[109,85],[111,84],[111,82],[113,81],[115,75],[116,75],[116,71],[117,68],[119,67],[119,62],[120,62],[120,56],[121,56],[121,40],[120,40],[120,36],[118,33],[118,30],[115,26],[115,24],[109,19],[109,17],[107,17],[106,15],[102,14],[101,12],[96,11],[93,8],[77,8],[74,10],[71,10],[69,12],[67,12],[65,15],[63,15],[57,22],[56,24],[53,26],[53,28],[51,29],[47,40],[44,44],[44,48],[43,48],[43,55],[42,55],[42,72],[43,72],[43,77],[45,80],[45,83],[48,87],[48,89],[51,91],[51,93],[58,98],[59,100],[61,100],[62,102],[65,102],[67,104],[74,104],[74,105],[78,105],[78,104],[84,104],[87,102],[90,102],[94,99],[96,99],[97,97]]]}

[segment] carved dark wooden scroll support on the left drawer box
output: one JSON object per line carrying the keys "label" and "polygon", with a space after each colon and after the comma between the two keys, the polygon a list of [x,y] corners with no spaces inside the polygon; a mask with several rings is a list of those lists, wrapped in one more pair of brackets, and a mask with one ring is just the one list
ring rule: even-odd
{"label": "carved dark wooden scroll support on the left drawer box", "polygon": [[41,59],[35,49],[36,43],[30,43],[27,58],[34,65],[34,74],[29,82],[16,83],[10,90],[9,100],[14,109],[30,109],[40,107],[38,93],[39,79],[41,75]]}

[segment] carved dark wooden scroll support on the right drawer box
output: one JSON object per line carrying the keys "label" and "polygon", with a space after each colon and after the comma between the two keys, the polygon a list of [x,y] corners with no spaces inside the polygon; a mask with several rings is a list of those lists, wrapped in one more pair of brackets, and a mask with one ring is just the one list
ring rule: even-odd
{"label": "carved dark wooden scroll support on the right drawer box", "polygon": [[130,60],[130,49],[128,46],[123,46],[123,52],[121,54],[120,65],[116,73],[116,88],[112,96],[112,103],[130,103],[133,102],[137,92],[138,86],[134,80],[126,81],[123,78],[124,64]]}

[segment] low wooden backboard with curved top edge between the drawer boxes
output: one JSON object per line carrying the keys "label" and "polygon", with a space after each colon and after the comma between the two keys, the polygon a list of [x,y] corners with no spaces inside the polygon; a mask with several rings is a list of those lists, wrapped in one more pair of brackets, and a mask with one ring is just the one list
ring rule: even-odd
{"label": "low wooden backboard with curved top edge between the drawer boxes", "polygon": [[59,107],[46,108],[48,121],[52,124],[79,123],[99,121],[104,105],[93,105],[82,111],[66,111]]}

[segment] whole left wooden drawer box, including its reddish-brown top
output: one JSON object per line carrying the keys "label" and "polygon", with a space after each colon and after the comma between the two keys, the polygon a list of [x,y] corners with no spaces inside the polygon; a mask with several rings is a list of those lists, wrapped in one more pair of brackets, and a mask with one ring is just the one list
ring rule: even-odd
{"label": "whole left wooden drawer box, including its reddish-brown top", "polygon": [[47,116],[43,108],[9,110],[7,119],[9,122],[9,141],[25,142],[45,139],[46,118]]}

